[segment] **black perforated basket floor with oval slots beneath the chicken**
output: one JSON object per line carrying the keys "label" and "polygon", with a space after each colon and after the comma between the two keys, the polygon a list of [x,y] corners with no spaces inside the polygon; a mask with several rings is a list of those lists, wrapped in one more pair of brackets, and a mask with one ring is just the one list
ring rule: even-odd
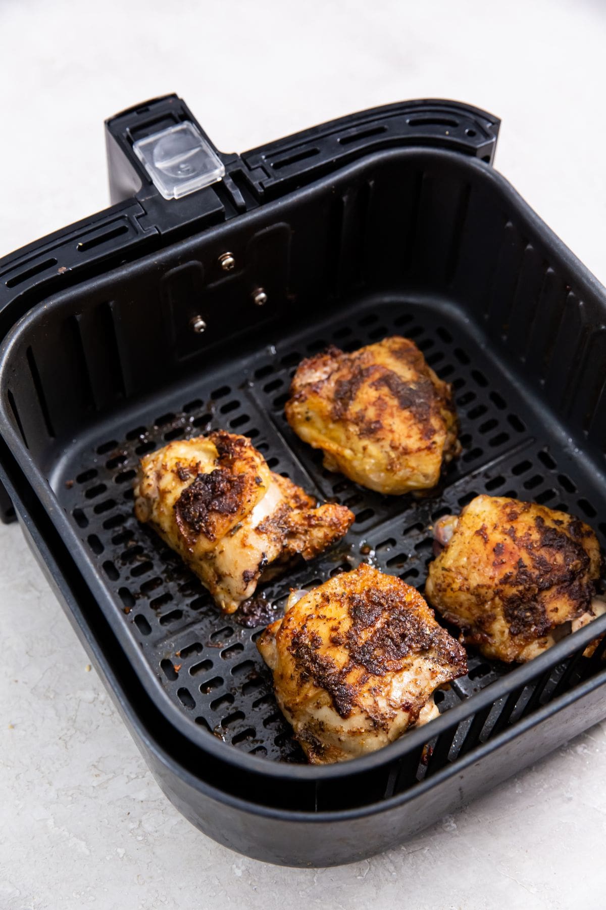
{"label": "black perforated basket floor with oval slots beneath the chicken", "polygon": [[[384,497],[323,470],[321,453],[298,440],[283,417],[290,378],[303,357],[329,343],[352,350],[392,334],[413,339],[452,383],[461,420],[461,457],[440,487],[422,497]],[[277,709],[257,652],[261,628],[218,612],[179,557],[133,515],[138,459],[169,440],[219,427],[249,436],[272,470],[321,499],[342,502],[356,516],[345,541],[265,588],[276,617],[291,587],[313,587],[363,560],[422,591],[432,558],[430,526],[482,492],[532,499],[588,521],[596,515],[591,503],[599,494],[561,449],[559,428],[531,409],[482,337],[447,304],[362,301],[172,389],[152,406],[122,411],[111,433],[104,430],[57,463],[51,475],[57,497],[101,569],[125,629],[174,703],[210,734],[273,760],[299,762],[303,753]],[[596,530],[603,545],[606,526]],[[437,693],[441,711],[509,670],[473,654],[469,664],[466,677]]]}

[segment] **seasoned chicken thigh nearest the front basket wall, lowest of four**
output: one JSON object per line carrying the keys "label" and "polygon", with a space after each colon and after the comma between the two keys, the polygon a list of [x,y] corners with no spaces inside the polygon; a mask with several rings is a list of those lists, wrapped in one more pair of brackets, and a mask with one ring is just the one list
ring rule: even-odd
{"label": "seasoned chicken thigh nearest the front basket wall, lowest of four", "polygon": [[257,647],[311,763],[373,752],[427,723],[434,690],[467,672],[462,647],[398,578],[362,564],[295,602],[301,593]]}

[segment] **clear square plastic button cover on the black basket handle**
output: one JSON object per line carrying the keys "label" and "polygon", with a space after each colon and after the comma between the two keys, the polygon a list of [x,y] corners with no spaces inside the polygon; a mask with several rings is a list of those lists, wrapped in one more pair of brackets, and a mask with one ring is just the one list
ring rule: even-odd
{"label": "clear square plastic button cover on the black basket handle", "polygon": [[133,148],[165,199],[187,196],[225,176],[223,162],[189,120],[145,136]]}

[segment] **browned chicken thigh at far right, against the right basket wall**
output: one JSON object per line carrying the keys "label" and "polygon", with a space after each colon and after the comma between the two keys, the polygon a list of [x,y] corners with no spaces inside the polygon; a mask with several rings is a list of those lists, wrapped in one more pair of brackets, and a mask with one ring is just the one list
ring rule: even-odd
{"label": "browned chicken thigh at far right, against the right basket wall", "polygon": [[[477,496],[429,567],[427,600],[461,641],[501,661],[529,661],[600,612],[600,545],[591,528],[534,502]],[[442,522],[445,520],[441,520]]]}

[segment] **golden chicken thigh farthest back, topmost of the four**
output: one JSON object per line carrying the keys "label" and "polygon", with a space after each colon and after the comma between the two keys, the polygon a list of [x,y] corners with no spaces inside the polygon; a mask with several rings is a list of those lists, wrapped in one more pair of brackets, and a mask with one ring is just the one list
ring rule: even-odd
{"label": "golden chicken thigh farthest back, topmost of the four", "polygon": [[285,412],[325,468],[381,493],[434,487],[460,450],[451,387],[398,336],[303,360]]}

